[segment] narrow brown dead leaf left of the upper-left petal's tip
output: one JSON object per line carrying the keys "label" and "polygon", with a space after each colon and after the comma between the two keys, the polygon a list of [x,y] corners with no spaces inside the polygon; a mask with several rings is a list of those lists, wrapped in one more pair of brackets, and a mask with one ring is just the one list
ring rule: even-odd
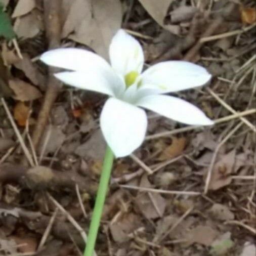
{"label": "narrow brown dead leaf left of the upper-left petal's tip", "polygon": [[39,72],[35,63],[33,63],[27,54],[23,54],[23,59],[15,63],[14,66],[22,70],[26,77],[36,86],[45,87],[45,77]]}

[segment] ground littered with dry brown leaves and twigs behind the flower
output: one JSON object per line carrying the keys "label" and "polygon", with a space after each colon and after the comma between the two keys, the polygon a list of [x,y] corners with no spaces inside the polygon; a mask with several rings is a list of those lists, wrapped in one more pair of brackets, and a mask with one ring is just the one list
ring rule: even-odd
{"label": "ground littered with dry brown leaves and twigs behind the flower", "polygon": [[62,86],[38,59],[58,47],[107,58],[120,27],[141,42],[145,67],[187,60],[207,68],[209,84],[175,95],[215,124],[148,112],[143,145],[114,162],[97,255],[255,255],[254,1],[0,3],[16,34],[0,29],[0,255],[82,255],[106,97]]}

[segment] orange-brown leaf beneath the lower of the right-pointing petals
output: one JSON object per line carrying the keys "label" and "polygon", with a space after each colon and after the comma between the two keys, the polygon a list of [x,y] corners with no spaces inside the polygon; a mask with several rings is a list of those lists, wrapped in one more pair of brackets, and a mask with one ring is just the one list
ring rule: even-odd
{"label": "orange-brown leaf beneath the lower of the right-pointing petals", "polygon": [[186,147],[186,142],[187,140],[184,137],[173,137],[172,144],[170,144],[163,150],[163,152],[159,156],[159,160],[163,161],[181,155]]}

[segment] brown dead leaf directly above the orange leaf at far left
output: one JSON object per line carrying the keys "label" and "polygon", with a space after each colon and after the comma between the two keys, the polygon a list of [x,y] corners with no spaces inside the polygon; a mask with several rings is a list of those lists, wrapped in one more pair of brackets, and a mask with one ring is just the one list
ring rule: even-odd
{"label": "brown dead leaf directly above the orange leaf at far left", "polygon": [[38,89],[18,78],[9,80],[9,86],[15,93],[13,98],[19,101],[33,101],[42,96]]}

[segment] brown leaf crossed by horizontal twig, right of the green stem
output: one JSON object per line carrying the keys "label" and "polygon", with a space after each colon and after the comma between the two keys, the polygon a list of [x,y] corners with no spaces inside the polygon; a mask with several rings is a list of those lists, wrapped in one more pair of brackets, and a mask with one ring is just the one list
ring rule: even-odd
{"label": "brown leaf crossed by horizontal twig, right of the green stem", "polygon": [[[143,176],[141,179],[140,187],[150,188],[151,184],[148,181],[147,176]],[[136,196],[136,204],[142,211],[143,215],[147,219],[156,219],[163,216],[166,202],[165,199],[158,193],[141,192]]]}

